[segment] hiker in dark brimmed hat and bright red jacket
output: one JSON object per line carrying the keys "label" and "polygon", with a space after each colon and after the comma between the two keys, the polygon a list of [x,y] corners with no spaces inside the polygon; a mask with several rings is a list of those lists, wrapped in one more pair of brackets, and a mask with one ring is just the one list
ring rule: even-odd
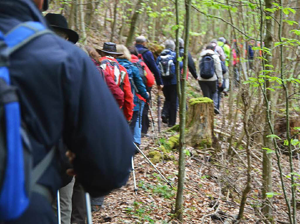
{"label": "hiker in dark brimmed hat and bright red jacket", "polygon": [[104,42],[103,49],[96,49],[96,51],[101,55],[101,58],[99,58],[100,67],[113,78],[114,82],[124,92],[124,106],[122,109],[127,122],[130,123],[134,109],[133,94],[127,71],[116,60],[116,57],[122,54],[116,52],[116,44],[112,42]]}

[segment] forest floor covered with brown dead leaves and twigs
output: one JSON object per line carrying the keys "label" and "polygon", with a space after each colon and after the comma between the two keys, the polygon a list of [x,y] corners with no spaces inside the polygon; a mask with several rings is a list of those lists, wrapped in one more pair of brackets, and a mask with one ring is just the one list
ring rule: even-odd
{"label": "forest floor covered with brown dead leaves and twigs", "polygon": [[[196,80],[189,77],[187,96],[201,96],[200,88]],[[236,95],[236,91],[234,91]],[[157,97],[156,86],[152,88],[152,109],[155,120],[155,133],[157,127]],[[163,94],[161,92],[161,98]],[[162,105],[161,105],[162,106]],[[229,112],[228,97],[222,98],[220,106],[221,114],[214,117],[215,129],[230,133],[226,117]],[[242,125],[242,112],[237,113],[237,125],[234,137],[239,137]],[[177,123],[179,118],[177,118]],[[168,127],[161,123],[162,131],[152,137],[142,138],[141,149],[148,156],[149,151],[158,147],[158,141],[167,139],[176,132],[165,132]],[[149,128],[152,133],[152,127]],[[228,148],[228,138],[217,134],[220,143],[219,149],[213,149],[213,156],[208,152],[200,152],[187,156],[185,165],[185,188],[184,188],[184,223],[233,223],[235,221],[240,205],[241,192],[246,183],[246,153],[243,145],[237,149],[234,156],[224,159],[224,152]],[[193,152],[193,148],[187,147]],[[262,179],[262,151],[258,146],[251,147],[252,151],[252,182],[251,191],[248,194],[247,204],[244,211],[242,223],[262,223],[260,208],[262,202],[261,179]],[[93,212],[93,223],[180,223],[173,219],[175,208],[178,157],[179,153],[173,151],[175,160],[160,161],[156,164],[158,170],[170,180],[173,188],[170,188],[164,180],[156,173],[153,167],[138,153],[134,157],[134,166],[137,180],[137,195],[134,192],[132,175],[128,183],[122,188],[113,191],[104,200],[104,208]],[[228,158],[229,157],[229,158]],[[281,156],[283,173],[289,173],[288,156]],[[299,161],[294,160],[295,172],[299,171]],[[285,176],[284,175],[284,176]],[[289,182],[288,178],[285,178]],[[280,185],[278,167],[273,161],[273,188],[279,193],[272,198],[273,212],[276,214],[276,223],[288,223],[286,206]],[[286,186],[290,197],[290,187]],[[297,197],[299,198],[299,192]],[[296,197],[296,198],[297,198]],[[298,213],[300,220],[300,213]]]}

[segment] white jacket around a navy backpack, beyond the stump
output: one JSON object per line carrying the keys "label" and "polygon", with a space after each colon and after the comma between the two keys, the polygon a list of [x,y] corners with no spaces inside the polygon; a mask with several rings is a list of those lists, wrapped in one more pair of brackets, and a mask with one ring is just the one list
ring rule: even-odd
{"label": "white jacket around a navy backpack, beyond the stump", "polygon": [[218,54],[216,54],[213,50],[202,51],[200,53],[198,65],[200,65],[200,61],[201,61],[202,57],[204,57],[206,54],[211,54],[211,57],[214,59],[214,76],[209,79],[201,78],[200,66],[199,66],[199,73],[198,73],[199,81],[216,81],[218,79],[219,83],[223,83],[223,73],[222,73],[221,61],[220,61]]}

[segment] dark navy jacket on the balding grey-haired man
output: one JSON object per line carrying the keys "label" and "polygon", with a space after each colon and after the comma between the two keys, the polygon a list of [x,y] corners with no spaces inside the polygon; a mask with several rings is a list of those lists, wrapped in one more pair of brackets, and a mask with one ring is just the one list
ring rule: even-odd
{"label": "dark navy jacket on the balding grey-haired man", "polygon": [[[137,50],[139,51],[139,53],[143,49],[148,49],[141,44],[136,44],[135,46],[136,46]],[[148,50],[145,53],[143,53],[142,56],[143,56],[144,62],[146,63],[147,67],[150,69],[150,71],[153,73],[153,75],[155,77],[156,85],[158,85],[158,86],[162,85],[161,76],[159,74],[158,67],[155,63],[152,52],[150,50]]]}

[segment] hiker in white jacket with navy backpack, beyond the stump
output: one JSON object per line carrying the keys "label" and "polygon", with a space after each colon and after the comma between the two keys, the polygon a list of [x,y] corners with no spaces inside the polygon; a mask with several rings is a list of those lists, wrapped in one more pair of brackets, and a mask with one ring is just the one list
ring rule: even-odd
{"label": "hiker in white jacket with navy backpack, beyond the stump", "polygon": [[223,74],[220,58],[212,44],[208,44],[206,50],[200,54],[198,80],[203,96],[214,101],[214,113],[220,114],[218,109],[217,86],[222,86]]}

